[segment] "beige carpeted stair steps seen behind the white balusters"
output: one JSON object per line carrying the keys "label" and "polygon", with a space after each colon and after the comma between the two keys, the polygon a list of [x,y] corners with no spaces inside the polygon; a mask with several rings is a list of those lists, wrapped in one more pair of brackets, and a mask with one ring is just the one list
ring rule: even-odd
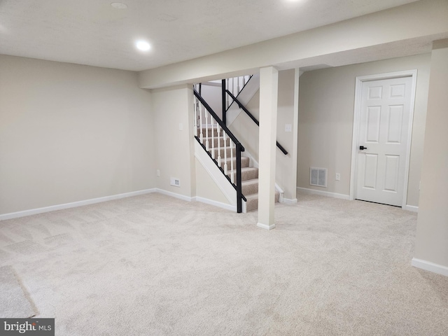
{"label": "beige carpeted stair steps seen behind the white balusters", "polygon": [[[227,171],[227,176],[230,181],[237,180],[237,163],[236,163],[236,149],[230,147],[230,138],[224,139],[223,132],[220,130],[218,134],[217,127],[202,127],[202,130],[198,129],[197,134],[203,134],[202,145],[207,148],[207,141],[209,153],[211,158],[214,158],[216,162],[221,162],[221,169],[223,172]],[[207,137],[204,136],[207,134]],[[213,146],[212,146],[213,144]],[[219,144],[219,146],[218,146]],[[219,147],[219,149],[218,149]],[[221,158],[218,160],[217,158]],[[225,165],[227,164],[227,169]],[[258,168],[250,167],[250,159],[248,157],[241,157],[241,191],[244,197],[246,197],[246,211],[253,211],[258,209]],[[279,202],[280,193],[275,192],[275,202]]]}

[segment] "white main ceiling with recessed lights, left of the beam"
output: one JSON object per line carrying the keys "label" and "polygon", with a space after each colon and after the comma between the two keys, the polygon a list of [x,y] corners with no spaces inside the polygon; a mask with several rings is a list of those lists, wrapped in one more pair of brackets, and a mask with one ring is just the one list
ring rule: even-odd
{"label": "white main ceiling with recessed lights, left of the beam", "polygon": [[0,0],[0,54],[141,71],[414,1]]}

